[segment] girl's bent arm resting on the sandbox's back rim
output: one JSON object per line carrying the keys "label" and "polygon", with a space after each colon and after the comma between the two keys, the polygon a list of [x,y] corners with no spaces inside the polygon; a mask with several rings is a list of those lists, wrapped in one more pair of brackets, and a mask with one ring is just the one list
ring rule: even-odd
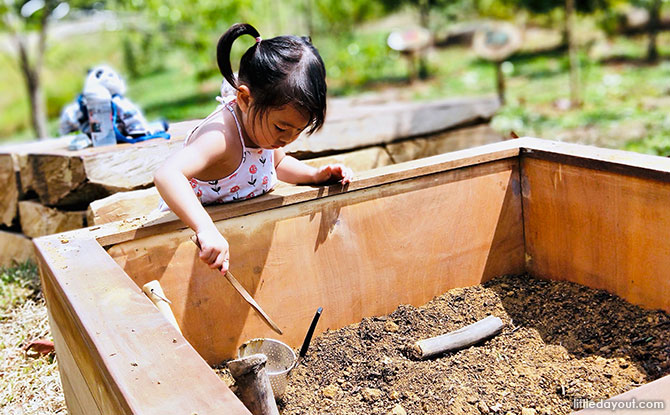
{"label": "girl's bent arm resting on the sandbox's back rim", "polygon": [[354,178],[350,168],[342,164],[329,164],[314,168],[292,156],[287,156],[284,149],[275,150],[275,169],[277,178],[293,184],[320,184],[339,181],[348,184]]}

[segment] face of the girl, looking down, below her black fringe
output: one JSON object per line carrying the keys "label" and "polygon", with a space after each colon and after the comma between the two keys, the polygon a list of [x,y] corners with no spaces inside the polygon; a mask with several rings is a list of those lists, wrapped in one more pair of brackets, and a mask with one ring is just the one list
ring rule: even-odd
{"label": "face of the girl, looking down, below her black fringe", "polygon": [[258,117],[249,117],[246,130],[249,139],[265,149],[283,147],[293,142],[309,125],[309,118],[292,105],[271,109]]}

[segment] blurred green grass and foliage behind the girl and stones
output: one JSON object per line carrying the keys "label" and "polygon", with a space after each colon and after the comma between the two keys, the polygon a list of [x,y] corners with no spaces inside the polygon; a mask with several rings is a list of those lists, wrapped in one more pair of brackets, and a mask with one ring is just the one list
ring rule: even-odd
{"label": "blurred green grass and foliage behind the girl and stones", "polygon": [[[60,109],[81,90],[87,68],[116,67],[129,96],[149,118],[199,118],[213,108],[221,77],[215,44],[230,24],[246,21],[263,37],[309,34],[327,66],[331,96],[395,91],[386,96],[433,99],[495,93],[492,66],[469,46],[436,48],[427,56],[429,78],[407,83],[408,63],[386,45],[391,30],[424,25],[439,43],[484,19],[525,26],[524,50],[506,63],[508,102],[492,125],[502,133],[566,139],[670,153],[670,88],[666,32],[660,60],[646,64],[644,33],[622,34],[632,7],[651,10],[667,0],[577,0],[582,108],[564,108],[568,60],[562,46],[563,0],[106,0],[71,2],[62,26],[104,13],[105,23],[50,34],[43,86],[50,132]],[[7,7],[25,1],[2,0]],[[661,13],[662,15],[663,13]],[[55,25],[54,25],[55,26]],[[539,33],[539,35],[538,35]],[[253,44],[241,38],[232,61]],[[0,140],[30,138],[28,105],[11,44],[0,33]],[[396,99],[392,98],[392,99]],[[399,99],[399,98],[398,98]],[[619,133],[613,133],[613,131]]]}

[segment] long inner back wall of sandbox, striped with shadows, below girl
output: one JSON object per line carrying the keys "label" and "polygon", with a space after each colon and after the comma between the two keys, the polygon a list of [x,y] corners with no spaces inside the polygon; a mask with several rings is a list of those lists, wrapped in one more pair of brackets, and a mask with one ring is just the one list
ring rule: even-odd
{"label": "long inner back wall of sandbox, striped with shadows, below girl", "polygon": [[231,271],[285,331],[277,336],[218,272],[190,230],[108,253],[138,285],[157,279],[184,336],[209,363],[254,337],[299,346],[319,330],[421,305],[451,288],[521,273],[518,158],[428,174],[223,220]]}

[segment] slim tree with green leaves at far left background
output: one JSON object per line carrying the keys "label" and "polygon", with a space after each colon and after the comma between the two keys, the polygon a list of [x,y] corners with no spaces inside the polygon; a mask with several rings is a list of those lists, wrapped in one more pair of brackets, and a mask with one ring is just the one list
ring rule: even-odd
{"label": "slim tree with green leaves at far left background", "polygon": [[[41,74],[47,47],[47,29],[52,20],[64,17],[70,6],[58,0],[28,0],[0,3],[0,27],[9,32],[16,49],[18,67],[23,76],[30,103],[31,125],[37,138],[47,136],[46,106]],[[35,45],[31,40],[37,36]],[[32,46],[32,47],[31,47]]]}

